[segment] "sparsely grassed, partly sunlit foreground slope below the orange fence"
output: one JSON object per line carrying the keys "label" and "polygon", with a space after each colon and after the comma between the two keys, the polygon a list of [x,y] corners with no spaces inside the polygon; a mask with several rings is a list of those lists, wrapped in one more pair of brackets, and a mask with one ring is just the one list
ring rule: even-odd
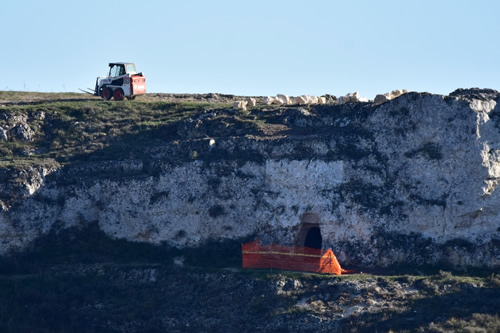
{"label": "sparsely grassed, partly sunlit foreground slope below the orange fence", "polygon": [[[96,264],[58,266],[46,274],[50,278],[25,276],[17,283],[3,279],[9,287],[8,292],[3,290],[9,304],[0,303],[3,332],[493,333],[500,329],[498,286],[447,273],[431,279],[349,280]],[[11,291],[14,286],[17,294]]]}

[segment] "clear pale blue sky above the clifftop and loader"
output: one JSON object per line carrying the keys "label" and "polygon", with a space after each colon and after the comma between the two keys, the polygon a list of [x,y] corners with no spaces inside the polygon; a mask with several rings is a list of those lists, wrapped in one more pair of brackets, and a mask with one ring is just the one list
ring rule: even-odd
{"label": "clear pale blue sky above the clifftop and loader", "polygon": [[135,62],[148,92],[500,90],[498,0],[3,0],[0,90],[78,91]]}

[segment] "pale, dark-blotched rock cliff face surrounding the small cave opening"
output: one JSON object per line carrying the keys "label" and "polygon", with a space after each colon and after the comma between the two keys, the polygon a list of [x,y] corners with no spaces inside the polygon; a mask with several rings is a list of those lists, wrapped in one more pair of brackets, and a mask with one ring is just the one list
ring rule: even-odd
{"label": "pale, dark-blotched rock cliff face surrounding the small cave opening", "polygon": [[496,91],[458,90],[252,109],[270,132],[231,130],[219,123],[224,110],[198,114],[173,127],[173,140],[145,147],[143,159],[46,174],[4,205],[0,250],[92,221],[112,237],[179,247],[293,245],[313,223],[347,265],[498,267],[498,102]]}

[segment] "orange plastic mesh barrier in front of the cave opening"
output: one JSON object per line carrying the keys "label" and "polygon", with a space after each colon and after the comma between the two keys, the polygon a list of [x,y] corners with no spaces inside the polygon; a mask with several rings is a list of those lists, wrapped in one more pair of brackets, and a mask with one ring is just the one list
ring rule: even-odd
{"label": "orange plastic mesh barrier in front of the cave opening", "polygon": [[241,245],[243,268],[273,268],[327,274],[347,274],[331,249],[289,247],[276,244],[260,245],[254,241]]}

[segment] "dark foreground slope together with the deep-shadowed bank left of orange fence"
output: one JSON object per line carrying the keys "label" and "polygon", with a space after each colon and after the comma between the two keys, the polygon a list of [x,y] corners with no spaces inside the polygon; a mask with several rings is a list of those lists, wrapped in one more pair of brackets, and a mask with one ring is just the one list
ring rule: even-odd
{"label": "dark foreground slope together with the deep-shadowed bank left of orange fence", "polygon": [[500,329],[498,274],[242,270],[237,242],[179,250],[110,240],[95,223],[35,243],[0,259],[2,332]]}

